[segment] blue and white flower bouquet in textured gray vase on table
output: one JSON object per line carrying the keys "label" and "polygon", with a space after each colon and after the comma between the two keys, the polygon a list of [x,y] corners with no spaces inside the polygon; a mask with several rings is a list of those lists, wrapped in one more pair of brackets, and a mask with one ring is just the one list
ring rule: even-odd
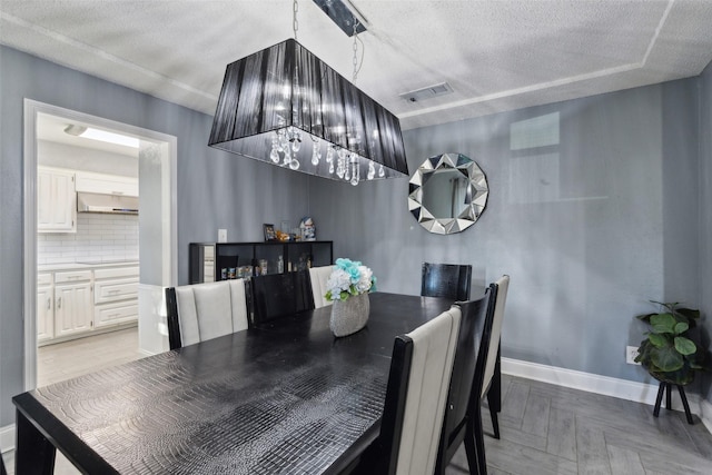
{"label": "blue and white flower bouquet in textured gray vase on table", "polygon": [[335,336],[346,336],[368,323],[368,293],[376,290],[374,273],[359,261],[339,258],[326,281],[326,299],[333,301],[329,327]]}

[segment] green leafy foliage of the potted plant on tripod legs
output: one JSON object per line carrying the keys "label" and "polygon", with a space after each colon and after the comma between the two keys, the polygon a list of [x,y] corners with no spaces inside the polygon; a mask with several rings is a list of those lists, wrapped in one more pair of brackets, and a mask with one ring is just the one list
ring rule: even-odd
{"label": "green leafy foliage of the potted plant on tripod legs", "polygon": [[636,317],[651,329],[641,342],[635,362],[661,383],[688,385],[698,370],[709,370],[706,349],[690,335],[700,310],[679,307],[679,303],[652,303],[660,306],[660,311]]}

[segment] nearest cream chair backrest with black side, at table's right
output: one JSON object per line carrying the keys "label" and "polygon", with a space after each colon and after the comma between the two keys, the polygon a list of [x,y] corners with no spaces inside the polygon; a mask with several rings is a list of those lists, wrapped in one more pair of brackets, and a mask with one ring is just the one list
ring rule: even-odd
{"label": "nearest cream chair backrest with black side, at table's right", "polygon": [[459,324],[461,310],[452,307],[396,337],[377,472],[425,475],[435,469]]}

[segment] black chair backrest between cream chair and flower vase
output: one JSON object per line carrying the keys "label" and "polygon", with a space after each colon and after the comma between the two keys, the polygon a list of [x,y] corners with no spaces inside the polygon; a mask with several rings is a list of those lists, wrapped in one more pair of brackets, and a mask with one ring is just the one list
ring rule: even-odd
{"label": "black chair backrest between cream chair and flower vase", "polygon": [[314,309],[307,270],[253,277],[253,325]]}

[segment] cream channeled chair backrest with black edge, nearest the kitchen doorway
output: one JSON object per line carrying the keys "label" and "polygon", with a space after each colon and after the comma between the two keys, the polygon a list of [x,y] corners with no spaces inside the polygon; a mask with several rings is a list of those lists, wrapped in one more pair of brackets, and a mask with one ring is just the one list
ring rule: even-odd
{"label": "cream channeled chair backrest with black edge, nearest the kitchen doorway", "polygon": [[243,279],[169,287],[166,308],[170,349],[247,328]]}

